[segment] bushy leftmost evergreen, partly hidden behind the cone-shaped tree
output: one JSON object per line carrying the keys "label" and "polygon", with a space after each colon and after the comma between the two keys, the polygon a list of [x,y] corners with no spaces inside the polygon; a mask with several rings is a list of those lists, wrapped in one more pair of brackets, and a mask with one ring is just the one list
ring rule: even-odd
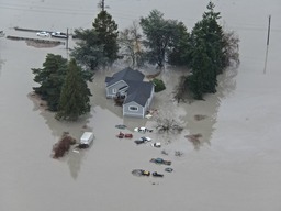
{"label": "bushy leftmost evergreen, partly hidden behind the cone-shaped tree", "polygon": [[33,87],[35,93],[45,100],[50,111],[57,111],[61,85],[67,71],[67,59],[60,55],[47,54],[43,68],[32,68],[34,81],[40,87]]}

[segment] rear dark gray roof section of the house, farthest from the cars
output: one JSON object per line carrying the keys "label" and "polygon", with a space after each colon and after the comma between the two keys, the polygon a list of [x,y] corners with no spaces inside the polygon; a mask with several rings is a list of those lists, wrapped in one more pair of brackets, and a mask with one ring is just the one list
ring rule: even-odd
{"label": "rear dark gray roof section of the house, farthest from the cars", "polygon": [[105,78],[105,82],[106,86],[111,86],[114,85],[115,82],[120,81],[120,80],[124,80],[124,81],[143,81],[144,79],[144,74],[142,74],[138,70],[134,70],[130,67],[114,74],[112,77],[106,77]]}

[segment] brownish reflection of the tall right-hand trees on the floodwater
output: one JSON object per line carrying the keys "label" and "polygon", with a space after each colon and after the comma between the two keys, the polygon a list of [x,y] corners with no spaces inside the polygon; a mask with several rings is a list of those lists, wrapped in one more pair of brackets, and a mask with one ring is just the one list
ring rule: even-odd
{"label": "brownish reflection of the tall right-hand trees on the floodwater", "polygon": [[[196,136],[190,143],[193,144],[194,149],[200,149],[205,144],[211,145],[221,101],[235,90],[237,69],[231,68],[220,75],[217,92],[206,95],[204,101],[188,100],[178,104],[173,100],[173,91],[180,77],[187,75],[188,70],[184,69],[165,69],[159,77],[164,80],[166,90],[155,95],[153,107],[159,110],[160,118],[179,121],[184,127],[183,133],[188,133],[186,135]],[[166,137],[168,142],[175,138],[173,134]]]}

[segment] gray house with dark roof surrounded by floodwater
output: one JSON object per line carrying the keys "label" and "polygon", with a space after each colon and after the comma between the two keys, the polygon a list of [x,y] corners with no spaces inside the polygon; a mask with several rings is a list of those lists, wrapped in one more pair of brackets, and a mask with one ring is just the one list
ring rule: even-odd
{"label": "gray house with dark roof surrounded by floodwater", "polygon": [[144,118],[154,97],[154,84],[143,81],[144,74],[125,68],[105,78],[106,98],[124,98],[123,115]]}

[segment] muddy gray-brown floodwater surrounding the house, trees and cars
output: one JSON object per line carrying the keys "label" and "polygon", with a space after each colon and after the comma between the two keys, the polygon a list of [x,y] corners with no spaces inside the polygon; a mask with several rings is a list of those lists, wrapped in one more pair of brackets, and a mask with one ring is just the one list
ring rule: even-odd
{"label": "muddy gray-brown floodwater surrounding the house, trees and cars", "polygon": [[[190,29],[206,2],[105,3],[120,27],[156,8]],[[214,2],[225,26],[239,34],[241,64],[220,76],[216,95],[180,104],[171,97],[173,85],[184,73],[169,67],[164,71],[167,90],[155,96],[153,107],[184,126],[179,135],[147,134],[162,142],[161,149],[168,153],[165,158],[172,160],[175,171],[164,179],[131,175],[135,168],[161,173],[162,166],[149,164],[151,157],[161,156],[161,149],[115,138],[115,124],[124,123],[126,132],[132,132],[134,126],[154,126],[155,122],[122,119],[121,109],[104,98],[104,78],[112,70],[97,73],[89,85],[93,93],[89,115],[76,123],[57,122],[29,96],[36,86],[30,69],[42,67],[47,53],[67,57],[65,46],[35,48],[0,38],[0,210],[280,210],[281,3]],[[11,27],[87,27],[97,12],[97,1],[1,1],[0,25],[7,35],[35,37]],[[272,23],[263,73],[268,14]],[[196,114],[204,119],[194,120]],[[93,131],[93,146],[79,154],[70,152],[61,160],[52,159],[52,146],[65,131],[76,138],[83,131]],[[201,134],[200,142],[184,137],[192,134]],[[177,157],[175,151],[183,155]]]}

